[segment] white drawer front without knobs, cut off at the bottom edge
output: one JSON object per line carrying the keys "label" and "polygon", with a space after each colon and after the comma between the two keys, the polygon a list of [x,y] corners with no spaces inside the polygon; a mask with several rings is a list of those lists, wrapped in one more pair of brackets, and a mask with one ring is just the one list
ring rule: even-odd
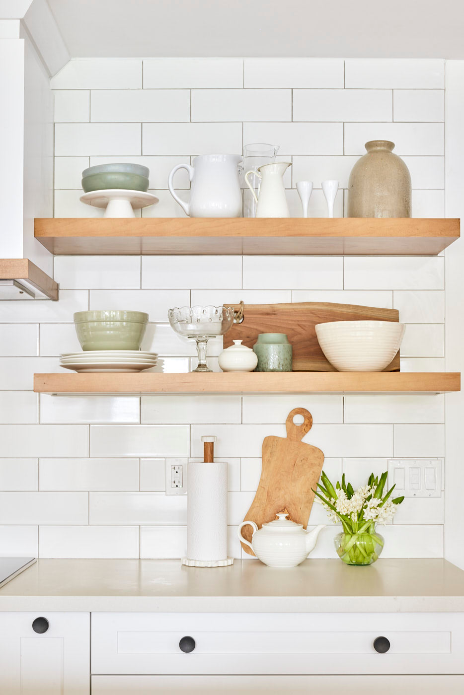
{"label": "white drawer front without knobs, cut off at the bottom edge", "polygon": [[464,676],[93,676],[92,695],[462,695]]}

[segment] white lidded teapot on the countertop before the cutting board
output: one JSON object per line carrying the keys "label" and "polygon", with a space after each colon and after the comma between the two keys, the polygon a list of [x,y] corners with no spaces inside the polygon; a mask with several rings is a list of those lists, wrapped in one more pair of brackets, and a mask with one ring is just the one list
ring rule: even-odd
{"label": "white lidded teapot on the countertop before the cutting board", "polygon": [[[326,526],[305,531],[303,524],[287,519],[287,512],[280,512],[277,516],[278,519],[264,523],[259,530],[254,521],[243,521],[237,531],[239,539],[269,567],[296,567],[314,549],[319,533]],[[242,527],[247,524],[254,529],[251,543],[241,535]]]}

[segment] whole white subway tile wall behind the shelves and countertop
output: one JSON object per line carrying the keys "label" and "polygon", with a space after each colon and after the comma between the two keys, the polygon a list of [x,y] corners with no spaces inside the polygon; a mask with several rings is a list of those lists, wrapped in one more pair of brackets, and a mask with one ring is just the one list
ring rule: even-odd
{"label": "whole white subway tile wall behind the shelves and countertop", "polygon": [[[74,60],[51,86],[57,217],[102,214],[79,202],[81,170],[102,161],[146,163],[160,203],[144,216],[183,216],[166,190],[175,163],[263,140],[280,143],[280,156],[293,163],[291,214],[301,214],[295,182],[312,179],[310,215],[323,216],[321,180],[337,178],[346,189],[373,138],[394,140],[408,163],[413,215],[444,216],[444,61]],[[342,193],[335,208],[344,215]],[[209,272],[211,265],[220,272]],[[243,299],[394,307],[408,324],[402,368],[442,370],[443,256],[56,257],[54,277],[59,302],[0,306],[0,555],[179,557],[186,498],[164,495],[162,459],[198,457],[200,436],[217,434],[217,457],[230,462],[230,553],[239,556],[234,534],[257,486],[262,439],[284,434],[297,406],[314,416],[306,441],[325,452],[328,475],[344,471],[353,485],[384,471],[388,457],[445,453],[440,395],[39,401],[31,392],[34,372],[58,371],[58,354],[79,349],[72,314],[88,307],[148,311],[143,349],[159,352],[164,369],[176,372],[194,365],[195,350],[168,326],[170,306]],[[211,351],[216,370],[220,349]],[[442,557],[444,503],[445,494],[405,502],[382,531],[384,555]],[[314,505],[310,523],[323,519]],[[335,532],[321,534],[313,557],[334,557]]]}

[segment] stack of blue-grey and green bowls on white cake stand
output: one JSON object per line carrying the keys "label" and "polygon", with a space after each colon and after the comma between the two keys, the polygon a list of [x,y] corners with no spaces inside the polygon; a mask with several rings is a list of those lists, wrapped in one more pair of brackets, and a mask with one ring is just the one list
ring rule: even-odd
{"label": "stack of blue-grey and green bowls on white cake stand", "polygon": [[141,190],[146,193],[150,185],[150,169],[141,164],[99,164],[82,172],[84,193],[93,190]]}

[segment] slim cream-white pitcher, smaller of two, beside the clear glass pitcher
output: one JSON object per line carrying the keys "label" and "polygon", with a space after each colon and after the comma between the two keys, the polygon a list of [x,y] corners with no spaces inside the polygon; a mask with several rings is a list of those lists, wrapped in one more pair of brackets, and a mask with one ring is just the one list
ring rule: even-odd
{"label": "slim cream-white pitcher, smaller of two, beside the clear glass pitcher", "polygon": [[[258,167],[257,172],[246,172],[245,181],[248,183],[248,188],[250,188],[257,202],[256,217],[290,217],[283,181],[283,175],[288,167],[291,167],[290,162],[274,162],[273,164],[264,164]],[[248,174],[253,174],[262,179],[259,197],[257,197],[255,189],[248,181]]]}

